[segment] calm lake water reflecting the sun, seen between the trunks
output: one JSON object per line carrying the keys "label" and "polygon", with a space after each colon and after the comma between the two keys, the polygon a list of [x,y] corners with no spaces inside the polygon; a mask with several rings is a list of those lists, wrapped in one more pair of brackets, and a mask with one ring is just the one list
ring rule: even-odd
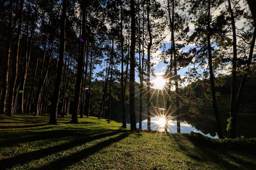
{"label": "calm lake water reflecting the sun, seen between the trunks", "polygon": [[[136,108],[139,110],[139,107]],[[151,109],[151,130],[164,132],[164,112],[165,109],[154,107]],[[127,111],[127,113],[129,113]],[[117,122],[122,121],[122,117],[120,111],[117,112],[119,115],[119,119],[114,119]],[[142,114],[142,130],[147,129],[147,110],[144,108]],[[127,123],[130,123],[129,115],[126,115]],[[174,116],[174,115],[173,115]],[[226,130],[227,128],[227,119],[229,118],[229,113],[220,113],[220,120],[222,124],[222,133],[223,136],[228,138],[229,132]],[[117,118],[117,116],[113,116],[113,118]],[[238,114],[237,118],[237,133],[236,136],[243,136],[245,138],[256,137],[256,115],[255,114]],[[136,114],[136,126],[139,128],[139,113]],[[161,123],[162,122],[162,123]],[[127,124],[130,126],[130,124]],[[191,131],[196,133],[201,133],[202,135],[218,138],[217,135],[217,127],[216,120],[214,117],[214,113],[201,113],[201,114],[192,114],[187,111],[181,111],[180,113],[180,132],[181,133],[190,133]],[[169,118],[168,120],[168,132],[177,133],[177,121],[173,118]]]}

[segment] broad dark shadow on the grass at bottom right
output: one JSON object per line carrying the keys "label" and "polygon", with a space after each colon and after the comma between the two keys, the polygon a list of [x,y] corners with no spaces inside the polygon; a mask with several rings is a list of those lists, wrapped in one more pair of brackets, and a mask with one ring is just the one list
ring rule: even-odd
{"label": "broad dark shadow on the grass at bottom right", "polygon": [[[190,134],[175,135],[174,139],[179,148],[184,151],[183,153],[195,161],[211,162],[218,165],[219,168],[222,167],[227,170],[240,169],[241,166],[243,169],[251,169],[256,166],[256,163],[251,163],[231,155],[231,153],[236,153],[237,155],[243,154],[244,157],[248,157],[245,151],[241,152],[239,148],[238,150],[227,148],[227,146],[214,142],[217,139],[209,139],[200,133],[191,132]],[[184,140],[191,142],[195,148],[187,146]],[[255,156],[252,159],[255,159]],[[233,162],[236,162],[238,165],[236,166]]]}

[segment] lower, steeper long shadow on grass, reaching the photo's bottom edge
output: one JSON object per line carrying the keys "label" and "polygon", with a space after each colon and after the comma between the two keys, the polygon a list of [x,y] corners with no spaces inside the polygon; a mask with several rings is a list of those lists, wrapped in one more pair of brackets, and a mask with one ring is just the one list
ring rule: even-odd
{"label": "lower, steeper long shadow on grass, reaching the photo's bottom edge", "polygon": [[79,152],[76,152],[75,154],[72,154],[68,157],[64,157],[62,159],[58,159],[56,161],[53,161],[49,163],[49,165],[42,166],[40,168],[36,168],[35,170],[62,170],[66,169],[68,166],[71,166],[72,164],[81,161],[82,159],[89,157],[90,155],[97,153],[99,150],[106,148],[107,146],[110,146],[111,144],[115,142],[119,142],[121,139],[126,138],[130,133],[122,133],[119,136],[115,138],[111,138],[108,140],[104,140],[102,142],[99,142],[98,144],[91,146],[90,148],[86,148],[84,150],[81,150]]}

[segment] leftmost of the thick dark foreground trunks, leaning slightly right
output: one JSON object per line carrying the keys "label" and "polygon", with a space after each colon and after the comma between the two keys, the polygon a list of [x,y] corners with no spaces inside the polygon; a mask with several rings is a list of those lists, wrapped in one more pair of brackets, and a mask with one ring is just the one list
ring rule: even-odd
{"label": "leftmost of the thick dark foreground trunks, leaning slightly right", "polygon": [[52,113],[50,114],[49,124],[57,124],[57,111],[58,111],[58,100],[61,89],[61,78],[63,71],[64,55],[65,55],[65,29],[66,29],[66,9],[67,0],[62,1],[62,14],[61,14],[61,34],[60,34],[60,49],[59,49],[59,60],[57,68],[57,76],[54,84],[54,94],[52,100]]}

